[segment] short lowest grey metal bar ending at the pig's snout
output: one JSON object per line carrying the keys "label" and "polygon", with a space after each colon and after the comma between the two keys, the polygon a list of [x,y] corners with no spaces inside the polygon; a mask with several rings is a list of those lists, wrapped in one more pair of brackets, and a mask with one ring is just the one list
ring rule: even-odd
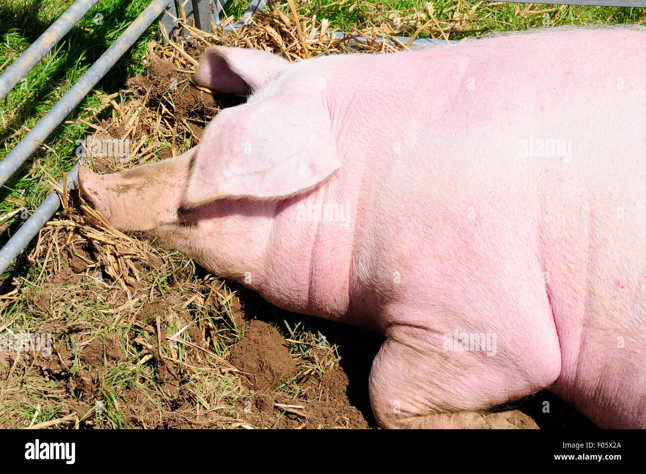
{"label": "short lowest grey metal bar ending at the pig's snout", "polygon": [[[67,173],[67,189],[72,189],[76,186],[78,181],[79,161],[72,170]],[[65,186],[63,181],[59,182],[61,188]],[[16,260],[20,252],[29,244],[29,242],[38,235],[38,232],[43,228],[47,221],[52,218],[61,205],[61,199],[56,191],[49,193],[43,204],[38,206],[37,210],[20,226],[14,233],[14,236],[6,242],[5,246],[0,250],[0,275],[2,275],[9,265]]]}

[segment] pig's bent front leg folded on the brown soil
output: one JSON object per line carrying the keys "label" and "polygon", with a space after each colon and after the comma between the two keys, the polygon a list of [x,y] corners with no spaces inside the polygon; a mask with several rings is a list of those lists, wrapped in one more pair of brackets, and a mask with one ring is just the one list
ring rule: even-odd
{"label": "pig's bent front leg folded on the brown soil", "polygon": [[[509,309],[509,308],[507,308]],[[455,313],[427,315],[446,321]],[[479,315],[461,316],[478,321]],[[481,315],[483,316],[483,315]],[[488,314],[487,318],[500,315]],[[510,315],[508,315],[510,316]],[[546,318],[548,315],[543,315]],[[393,318],[414,321],[415,316]],[[541,318],[542,319],[542,318]],[[441,324],[440,324],[441,326]],[[547,388],[559,375],[560,352],[556,329],[541,341],[517,344],[514,329],[496,329],[495,347],[457,347],[460,336],[485,334],[477,323],[466,332],[424,328],[414,323],[391,324],[370,372],[370,400],[382,427],[488,428],[496,425],[495,405]],[[482,331],[482,332],[480,332]],[[448,337],[446,337],[448,336]],[[456,340],[453,340],[456,339]],[[482,350],[479,350],[482,349]],[[487,352],[489,349],[489,352]],[[496,427],[500,427],[497,424]],[[512,427],[512,426],[509,426]]]}

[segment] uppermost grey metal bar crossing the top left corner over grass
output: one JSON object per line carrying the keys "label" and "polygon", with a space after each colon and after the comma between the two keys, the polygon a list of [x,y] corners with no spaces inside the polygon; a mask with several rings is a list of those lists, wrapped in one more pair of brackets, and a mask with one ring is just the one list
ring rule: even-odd
{"label": "uppermost grey metal bar crossing the top left corner over grass", "polygon": [[61,41],[63,36],[79,22],[83,15],[90,11],[92,6],[96,5],[99,0],[76,0],[74,5],[70,6],[65,12],[58,17],[52,26],[47,28],[16,61],[10,65],[2,76],[0,76],[0,100],[8,94],[19,81],[24,78],[30,70],[45,54],[50,52],[54,45]]}

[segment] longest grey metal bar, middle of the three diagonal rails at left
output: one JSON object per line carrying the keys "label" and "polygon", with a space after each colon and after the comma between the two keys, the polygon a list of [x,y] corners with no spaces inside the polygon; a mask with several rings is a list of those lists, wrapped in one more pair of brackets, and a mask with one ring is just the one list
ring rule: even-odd
{"label": "longest grey metal bar, middle of the three diagonal rails at left", "polygon": [[0,185],[12,177],[25,160],[36,151],[65,117],[74,110],[81,100],[92,90],[92,87],[110,70],[134,42],[143,34],[157,17],[160,16],[171,0],[153,0],[140,16],[121,34],[119,38],[101,55],[96,63],[83,74],[72,89],[59,100],[40,122],[23,138],[19,144],[6,155],[0,163]]}

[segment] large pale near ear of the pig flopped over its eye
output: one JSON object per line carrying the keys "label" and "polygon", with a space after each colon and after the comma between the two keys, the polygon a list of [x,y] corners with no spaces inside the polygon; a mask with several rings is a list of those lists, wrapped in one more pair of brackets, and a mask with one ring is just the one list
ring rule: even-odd
{"label": "large pale near ear of the pig flopped over its eye", "polygon": [[220,112],[204,131],[184,205],[284,198],[313,188],[340,166],[320,99],[294,94],[238,105]]}

